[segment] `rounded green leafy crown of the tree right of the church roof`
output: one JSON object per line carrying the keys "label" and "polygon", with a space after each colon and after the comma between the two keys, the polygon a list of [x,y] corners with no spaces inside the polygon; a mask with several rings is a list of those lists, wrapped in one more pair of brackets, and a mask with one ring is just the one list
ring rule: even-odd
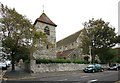
{"label": "rounded green leafy crown of the tree right of the church roof", "polygon": [[95,48],[115,46],[115,28],[109,26],[108,22],[104,22],[102,19],[92,19],[86,23],[85,27]]}

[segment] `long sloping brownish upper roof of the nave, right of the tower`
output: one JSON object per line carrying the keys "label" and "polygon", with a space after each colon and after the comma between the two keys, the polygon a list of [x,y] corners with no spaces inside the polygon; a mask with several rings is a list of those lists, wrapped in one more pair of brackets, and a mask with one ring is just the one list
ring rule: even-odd
{"label": "long sloping brownish upper roof of the nave, right of the tower", "polygon": [[58,41],[57,42],[57,47],[65,46],[67,44],[75,42],[77,40],[78,36],[80,35],[80,33],[81,33],[81,30],[72,34],[72,35],[70,35],[70,36],[68,36],[68,37],[66,37],[66,38],[64,38],[64,39],[62,39],[62,40],[60,40],[60,41]]}

